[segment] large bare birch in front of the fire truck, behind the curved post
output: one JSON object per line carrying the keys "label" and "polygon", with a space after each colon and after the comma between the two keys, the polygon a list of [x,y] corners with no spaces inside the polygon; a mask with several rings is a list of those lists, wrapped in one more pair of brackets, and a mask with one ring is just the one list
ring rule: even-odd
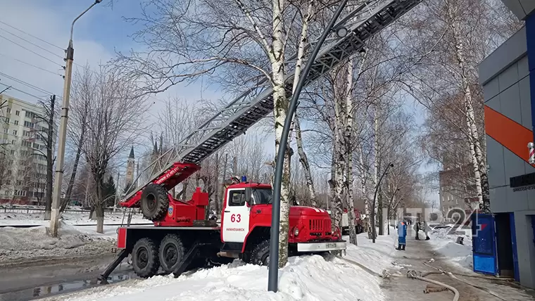
{"label": "large bare birch in front of the fire truck, behind the curved post", "polygon": [[[141,91],[145,93],[165,91],[200,77],[224,83],[233,91],[255,87],[267,79],[273,89],[277,153],[288,106],[285,79],[293,65],[286,65],[285,58],[287,52],[305,49],[309,34],[303,23],[308,22],[310,4],[313,2],[150,0],[142,8],[141,18],[130,19],[143,25],[134,39],[143,43],[146,51],[120,54],[115,65],[144,82]],[[289,47],[295,37],[297,47]],[[287,263],[288,252],[290,175],[289,164],[286,166],[281,190],[280,267]]]}

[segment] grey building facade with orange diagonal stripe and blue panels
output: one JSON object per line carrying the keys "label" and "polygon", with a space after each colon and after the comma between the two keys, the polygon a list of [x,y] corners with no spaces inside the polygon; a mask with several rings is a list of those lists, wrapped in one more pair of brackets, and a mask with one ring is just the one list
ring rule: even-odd
{"label": "grey building facade with orange diagonal stripe and blue panels", "polygon": [[535,288],[535,1],[503,3],[525,26],[479,65],[497,270]]}

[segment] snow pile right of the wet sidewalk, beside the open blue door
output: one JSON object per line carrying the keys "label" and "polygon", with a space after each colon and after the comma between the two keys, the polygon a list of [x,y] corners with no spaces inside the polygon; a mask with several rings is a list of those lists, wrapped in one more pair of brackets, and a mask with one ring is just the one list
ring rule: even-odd
{"label": "snow pile right of the wet sidewalk, beside the open blue door", "polygon": [[[468,235],[466,231],[462,231],[461,235],[450,234],[450,231],[451,228],[434,229],[430,233],[429,243],[433,245],[436,252],[446,257],[449,262],[472,269],[472,236]],[[464,237],[463,245],[455,242],[458,236]]]}

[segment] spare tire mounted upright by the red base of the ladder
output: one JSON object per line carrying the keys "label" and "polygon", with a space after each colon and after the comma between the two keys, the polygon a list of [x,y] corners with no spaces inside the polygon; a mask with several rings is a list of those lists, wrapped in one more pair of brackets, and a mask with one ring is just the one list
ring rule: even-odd
{"label": "spare tire mounted upright by the red base of the ladder", "polygon": [[167,190],[158,184],[149,184],[141,193],[141,212],[151,221],[159,221],[168,211],[169,198]]}

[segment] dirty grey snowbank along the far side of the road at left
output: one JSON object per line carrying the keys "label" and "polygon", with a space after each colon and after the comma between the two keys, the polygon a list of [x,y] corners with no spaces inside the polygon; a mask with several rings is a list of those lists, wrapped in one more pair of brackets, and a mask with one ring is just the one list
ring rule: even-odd
{"label": "dirty grey snowbank along the far side of the road at left", "polygon": [[0,228],[0,262],[36,257],[91,256],[110,252],[115,238],[111,231],[115,233],[115,228],[105,228],[107,232],[104,234],[94,230],[79,231],[77,227],[61,222],[58,237],[53,238],[45,226]]}

